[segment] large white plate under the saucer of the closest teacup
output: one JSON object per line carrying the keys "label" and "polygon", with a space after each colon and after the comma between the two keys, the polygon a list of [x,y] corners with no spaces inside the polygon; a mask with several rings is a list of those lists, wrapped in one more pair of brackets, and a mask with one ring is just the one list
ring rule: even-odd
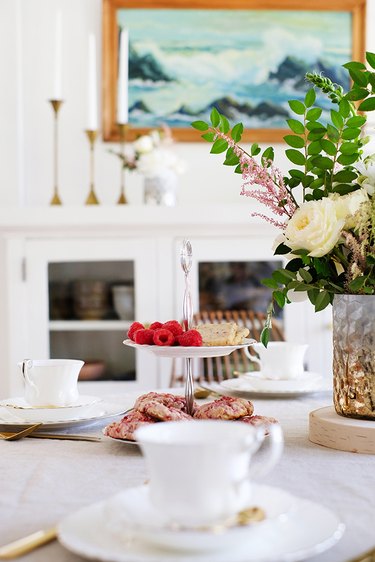
{"label": "large white plate under the saucer of the closest teacup", "polygon": [[294,500],[295,508],[285,520],[244,528],[248,539],[233,544],[229,555],[227,549],[189,553],[156,547],[126,529],[116,536],[107,525],[108,500],[63,519],[58,537],[68,550],[103,562],[295,562],[331,548],[342,537],[344,525],[321,505]]}

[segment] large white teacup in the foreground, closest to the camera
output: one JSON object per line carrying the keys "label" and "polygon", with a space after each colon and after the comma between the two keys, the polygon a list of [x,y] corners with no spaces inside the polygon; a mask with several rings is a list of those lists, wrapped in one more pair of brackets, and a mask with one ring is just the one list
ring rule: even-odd
{"label": "large white teacup in the foreground, closest to the camera", "polygon": [[270,428],[267,456],[252,464],[264,427],[219,420],[147,425],[135,432],[150,474],[150,499],[171,523],[196,527],[233,516],[251,504],[252,477],[278,461],[283,436]]}

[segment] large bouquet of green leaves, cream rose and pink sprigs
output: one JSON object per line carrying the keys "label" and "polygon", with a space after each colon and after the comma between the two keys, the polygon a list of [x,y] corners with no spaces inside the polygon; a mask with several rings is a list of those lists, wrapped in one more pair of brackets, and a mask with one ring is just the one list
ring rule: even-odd
{"label": "large bouquet of green leaves, cream rose and pink sprigs", "polygon": [[[257,143],[240,146],[242,123],[231,127],[215,108],[210,123],[192,126],[212,142],[211,153],[225,152],[224,165],[242,174],[241,194],[264,204],[262,216],[280,229],[275,254],[286,264],[263,279],[273,290],[261,339],[268,343],[274,303],[281,308],[305,294],[323,310],[335,294],[375,294],[375,156],[365,155],[365,112],[375,109],[375,53],[366,53],[370,68],[349,62],[344,68],[352,88],[307,73],[311,84],[303,100],[290,100],[295,118],[287,120],[285,154],[294,165],[283,174],[274,164],[274,149],[261,153]],[[320,90],[332,103],[329,119],[320,120]],[[258,157],[258,158],[257,158]]]}

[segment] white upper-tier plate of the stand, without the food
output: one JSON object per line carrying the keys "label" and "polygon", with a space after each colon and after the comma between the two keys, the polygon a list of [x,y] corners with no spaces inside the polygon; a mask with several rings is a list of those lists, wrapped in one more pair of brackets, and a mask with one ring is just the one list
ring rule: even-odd
{"label": "white upper-tier plate of the stand, without the food", "polygon": [[229,355],[235,349],[249,347],[256,343],[256,340],[244,339],[241,345],[218,345],[218,346],[200,346],[185,347],[182,345],[139,345],[132,340],[124,340],[123,344],[135,349],[143,349],[150,351],[158,357],[223,357]]}

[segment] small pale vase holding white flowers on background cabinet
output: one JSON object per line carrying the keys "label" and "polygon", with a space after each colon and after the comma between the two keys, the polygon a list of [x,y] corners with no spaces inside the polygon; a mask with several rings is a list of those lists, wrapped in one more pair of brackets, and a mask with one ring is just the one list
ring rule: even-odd
{"label": "small pale vase holding white flowers on background cabinet", "polygon": [[177,202],[177,174],[164,170],[155,176],[144,179],[143,200],[146,205],[164,205],[174,207]]}

